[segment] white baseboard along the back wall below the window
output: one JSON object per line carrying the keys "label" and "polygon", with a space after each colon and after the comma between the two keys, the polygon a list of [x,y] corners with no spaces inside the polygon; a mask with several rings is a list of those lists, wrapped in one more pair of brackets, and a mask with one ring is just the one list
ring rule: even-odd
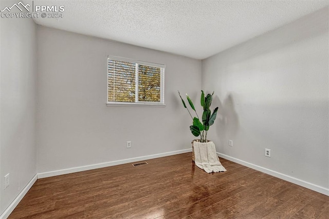
{"label": "white baseboard along the back wall below the window", "polygon": [[153,158],[171,156],[171,155],[187,153],[187,152],[191,152],[191,151],[192,151],[192,149],[184,149],[184,150],[179,150],[179,151],[171,151],[171,152],[159,153],[159,154],[153,154],[153,155],[147,155],[147,156],[139,156],[139,157],[129,158],[129,159],[125,159],[125,160],[119,160],[119,161],[112,161],[112,162],[93,164],[93,165],[87,165],[87,166],[82,166],[82,167],[74,167],[74,168],[68,168],[68,169],[63,169],[63,170],[43,172],[43,173],[38,173],[38,178],[45,178],[45,177],[50,177],[50,176],[75,173],[75,172],[80,172],[80,171],[85,171],[85,170],[93,170],[93,169],[103,168],[103,167],[111,167],[111,166],[115,166],[115,165],[138,162],[138,161],[142,161],[142,160],[150,160]]}

